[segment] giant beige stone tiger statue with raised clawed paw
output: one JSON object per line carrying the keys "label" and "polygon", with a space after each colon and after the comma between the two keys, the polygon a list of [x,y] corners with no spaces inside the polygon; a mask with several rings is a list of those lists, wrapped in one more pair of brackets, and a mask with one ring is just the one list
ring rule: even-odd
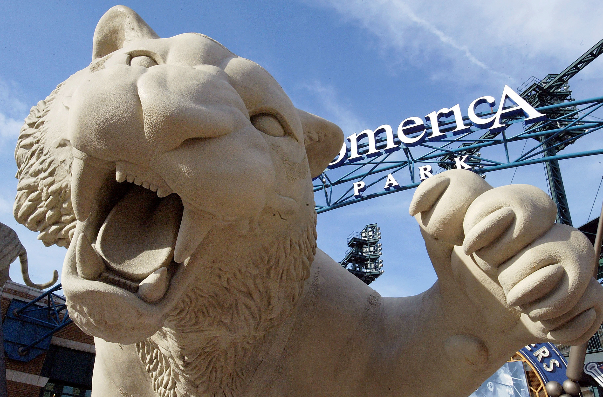
{"label": "giant beige stone tiger statue with raised clawed paw", "polygon": [[521,346],[601,324],[593,247],[539,189],[465,170],[421,183],[410,213],[438,282],[383,298],[316,248],[311,178],[337,126],[127,7],[92,48],[25,120],[14,214],[68,247],[94,396],[466,397]]}

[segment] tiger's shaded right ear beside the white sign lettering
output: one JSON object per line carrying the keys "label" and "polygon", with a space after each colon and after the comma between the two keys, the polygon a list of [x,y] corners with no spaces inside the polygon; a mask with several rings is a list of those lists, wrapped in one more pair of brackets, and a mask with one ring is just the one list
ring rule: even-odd
{"label": "tiger's shaded right ear beside the white sign lettering", "polygon": [[297,109],[312,178],[319,176],[341,150],[343,132],[322,117]]}

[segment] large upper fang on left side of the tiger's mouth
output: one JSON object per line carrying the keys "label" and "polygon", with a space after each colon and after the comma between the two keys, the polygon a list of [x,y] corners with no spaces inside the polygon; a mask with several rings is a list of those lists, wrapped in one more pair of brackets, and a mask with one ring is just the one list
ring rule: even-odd
{"label": "large upper fang on left side of the tiger's mouth", "polygon": [[71,165],[71,202],[78,221],[85,221],[99,189],[113,170],[74,157]]}

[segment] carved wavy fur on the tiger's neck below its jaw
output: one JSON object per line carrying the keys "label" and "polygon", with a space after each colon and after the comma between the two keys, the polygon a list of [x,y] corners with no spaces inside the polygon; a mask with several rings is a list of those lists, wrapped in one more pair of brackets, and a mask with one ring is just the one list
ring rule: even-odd
{"label": "carved wavy fur on the tiger's neck below its jaw", "polygon": [[314,216],[293,235],[216,260],[210,280],[186,292],[162,330],[136,343],[155,392],[223,397],[243,389],[254,342],[291,315],[303,291],[316,238]]}

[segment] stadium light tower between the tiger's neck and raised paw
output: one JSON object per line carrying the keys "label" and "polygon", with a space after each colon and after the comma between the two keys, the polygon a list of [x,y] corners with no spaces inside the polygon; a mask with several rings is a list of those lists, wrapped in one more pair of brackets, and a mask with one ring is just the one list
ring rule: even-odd
{"label": "stadium light tower between the tiger's neck and raised paw", "polygon": [[352,232],[347,237],[349,250],[339,265],[369,285],[383,274],[381,228],[376,223],[369,224],[360,233]]}

